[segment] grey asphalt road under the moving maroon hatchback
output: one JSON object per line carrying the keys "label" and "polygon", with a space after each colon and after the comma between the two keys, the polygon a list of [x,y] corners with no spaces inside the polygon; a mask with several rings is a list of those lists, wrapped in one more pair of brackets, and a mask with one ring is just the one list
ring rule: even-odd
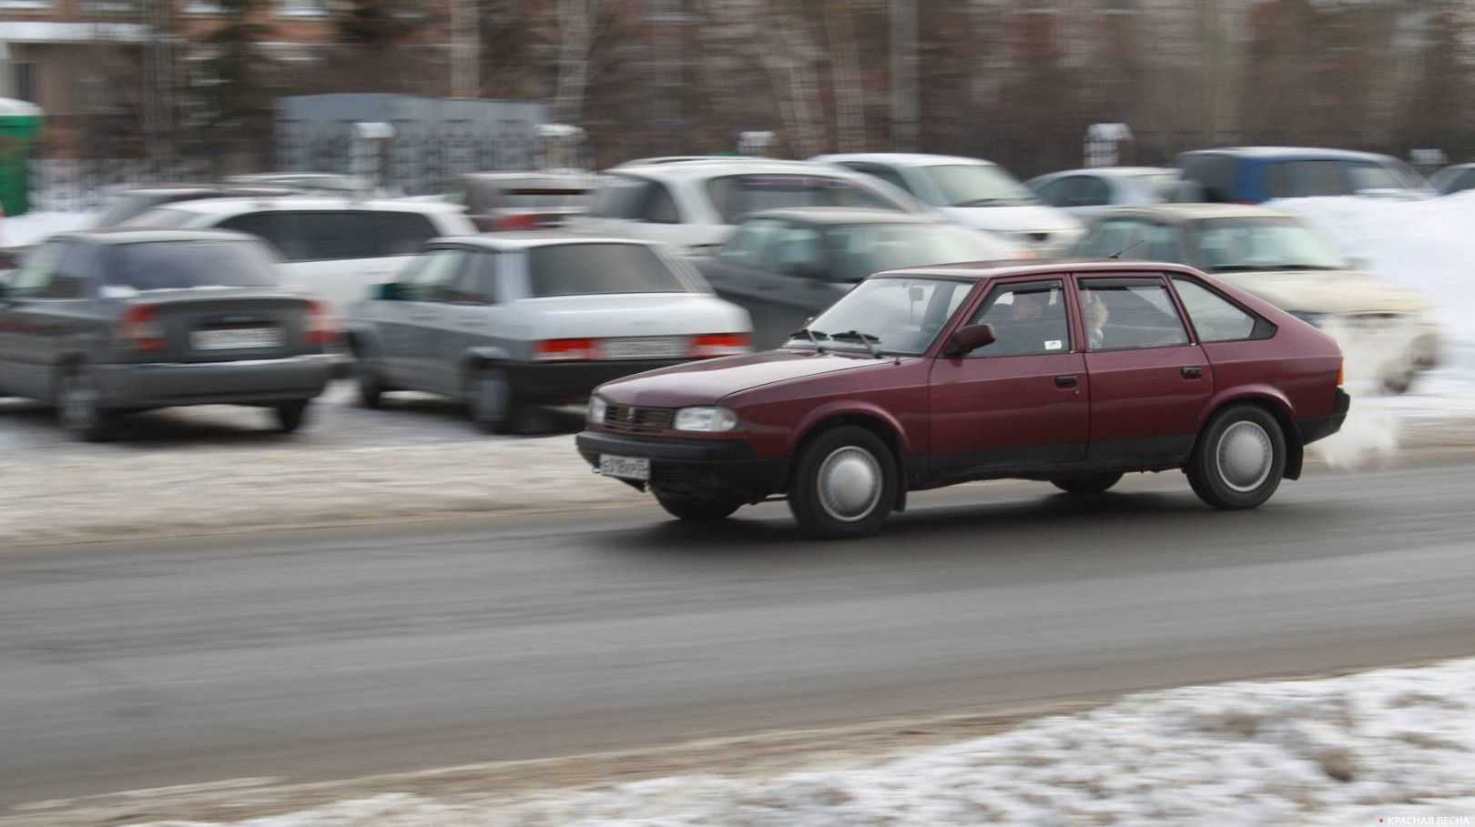
{"label": "grey asphalt road under the moving maroon hatchback", "polygon": [[1475,655],[1472,472],[971,486],[819,545],[764,506],[0,554],[0,805]]}

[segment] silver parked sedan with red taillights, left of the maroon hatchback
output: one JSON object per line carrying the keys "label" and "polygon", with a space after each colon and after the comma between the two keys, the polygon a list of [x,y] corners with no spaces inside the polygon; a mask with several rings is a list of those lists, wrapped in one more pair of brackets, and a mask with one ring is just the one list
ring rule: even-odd
{"label": "silver parked sedan with red taillights, left of the maroon hatchback", "polygon": [[435,240],[348,327],[364,405],[429,391],[494,433],[527,405],[584,404],[600,382],[752,342],[748,314],[658,245],[552,233]]}

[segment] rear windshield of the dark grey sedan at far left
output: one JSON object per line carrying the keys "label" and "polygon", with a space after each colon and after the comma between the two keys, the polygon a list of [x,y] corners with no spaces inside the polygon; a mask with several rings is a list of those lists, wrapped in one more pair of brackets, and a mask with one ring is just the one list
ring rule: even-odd
{"label": "rear windshield of the dark grey sedan at far left", "polygon": [[146,242],[119,245],[105,268],[108,285],[134,290],[270,287],[271,259],[252,242]]}

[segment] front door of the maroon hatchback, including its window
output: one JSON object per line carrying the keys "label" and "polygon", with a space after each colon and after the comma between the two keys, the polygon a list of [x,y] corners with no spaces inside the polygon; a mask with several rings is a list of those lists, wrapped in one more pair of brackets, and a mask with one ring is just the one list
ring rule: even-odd
{"label": "front door of the maroon hatchback, including its window", "polygon": [[996,341],[932,366],[932,466],[944,481],[1047,472],[1086,458],[1090,399],[1065,280],[996,282],[969,324]]}

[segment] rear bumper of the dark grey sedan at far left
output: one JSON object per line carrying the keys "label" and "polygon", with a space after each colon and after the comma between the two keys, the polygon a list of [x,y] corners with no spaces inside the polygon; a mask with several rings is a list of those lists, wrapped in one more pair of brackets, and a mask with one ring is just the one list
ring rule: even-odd
{"label": "rear bumper of the dark grey sedan at far left", "polygon": [[109,408],[271,404],[311,399],[323,392],[333,357],[311,354],[276,360],[106,364],[96,369]]}

